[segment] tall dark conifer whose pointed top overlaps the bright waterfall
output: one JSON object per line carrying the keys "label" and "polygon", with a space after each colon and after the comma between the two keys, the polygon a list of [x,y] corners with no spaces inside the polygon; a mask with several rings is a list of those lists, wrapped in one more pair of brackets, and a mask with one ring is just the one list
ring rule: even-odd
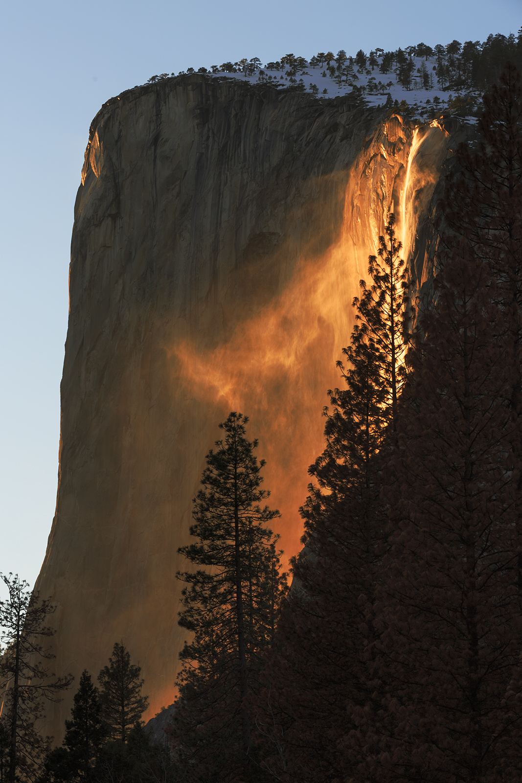
{"label": "tall dark conifer whose pointed top overlaps the bright waterfall", "polygon": [[346,388],[329,391],[326,449],[309,468],[316,483],[301,509],[306,548],[293,561],[293,589],[278,630],[282,651],[269,669],[262,728],[272,752],[266,764],[290,780],[338,778],[348,711],[375,691],[368,655],[378,639],[373,615],[385,521],[381,451],[394,432],[405,379],[406,275],[393,215],[385,234],[377,256],[369,257],[372,285],[361,280],[362,295],[354,299],[356,324],[344,349],[348,366],[339,363]]}

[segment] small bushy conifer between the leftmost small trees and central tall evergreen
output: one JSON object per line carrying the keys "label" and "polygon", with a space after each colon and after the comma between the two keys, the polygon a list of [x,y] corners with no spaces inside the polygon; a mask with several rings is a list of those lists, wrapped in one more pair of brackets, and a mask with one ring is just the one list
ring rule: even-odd
{"label": "small bushy conifer between the leftmost small trees and central tall evergreen", "polygon": [[141,694],[141,673],[141,667],[131,663],[123,642],[115,642],[109,666],[104,666],[98,676],[103,721],[112,739],[126,742],[128,731],[149,705],[149,698]]}

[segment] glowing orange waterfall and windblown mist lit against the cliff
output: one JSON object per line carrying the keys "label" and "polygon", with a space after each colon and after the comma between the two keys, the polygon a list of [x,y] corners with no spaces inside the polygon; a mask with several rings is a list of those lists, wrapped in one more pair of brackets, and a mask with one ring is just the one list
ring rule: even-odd
{"label": "glowing orange waterfall and windblown mist lit against the cliff", "polygon": [[[404,131],[401,131],[404,133]],[[405,150],[398,215],[398,238],[409,259],[416,240],[419,212],[437,182],[441,129],[416,128]],[[423,155],[420,155],[422,150]],[[390,166],[381,147],[380,163]],[[401,166],[395,161],[398,175]],[[286,558],[301,548],[299,507],[307,496],[308,466],[324,448],[321,412],[327,389],[340,384],[336,362],[350,340],[355,322],[351,302],[359,280],[367,279],[368,256],[383,233],[389,192],[369,182],[365,161],[352,168],[344,198],[344,221],[337,242],[321,257],[303,257],[293,279],[265,309],[251,313],[215,348],[185,339],[171,346],[173,382],[203,403],[218,422],[231,410],[250,417],[247,434],[259,439],[257,456],[267,461],[265,489],[271,507],[283,514],[275,521]],[[383,182],[379,172],[374,181]],[[207,449],[213,442],[208,442]]]}

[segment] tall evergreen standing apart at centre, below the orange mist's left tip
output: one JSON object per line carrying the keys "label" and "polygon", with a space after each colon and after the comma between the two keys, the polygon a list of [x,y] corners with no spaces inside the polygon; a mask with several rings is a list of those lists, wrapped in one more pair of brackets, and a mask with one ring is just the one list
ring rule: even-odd
{"label": "tall evergreen standing apart at centre, below the orange mist's left tip", "polygon": [[[230,413],[220,424],[225,438],[207,454],[203,489],[194,501],[197,541],[180,552],[196,572],[178,572],[187,583],[179,624],[193,632],[180,654],[180,698],[174,736],[178,752],[197,780],[255,780],[254,716],[262,658],[272,643],[275,608],[284,591],[278,536],[265,525],[279,516],[260,503],[257,440],[247,440],[247,417]],[[199,777],[197,777],[199,775]]]}

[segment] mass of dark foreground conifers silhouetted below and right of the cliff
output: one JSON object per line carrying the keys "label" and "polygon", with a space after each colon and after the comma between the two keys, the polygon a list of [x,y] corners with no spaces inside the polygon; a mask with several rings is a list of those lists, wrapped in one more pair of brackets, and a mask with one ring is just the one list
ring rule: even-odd
{"label": "mass of dark foreground conifers silhouetted below and right of the cliff", "polygon": [[[165,745],[153,748],[136,702],[134,727],[113,723],[111,780],[519,783],[522,83],[512,63],[484,96],[479,132],[446,178],[429,306],[416,301],[393,213],[383,215],[343,383],[329,391],[326,446],[309,468],[290,590],[247,417],[220,425],[193,541],[178,550],[191,564],[177,576],[192,637]],[[14,599],[2,603],[4,626]],[[52,633],[48,613],[36,632]],[[5,780],[108,779],[97,777],[105,741],[83,767],[52,767],[74,734],[43,769],[19,763],[9,719],[31,684],[13,686],[13,640],[27,639],[11,636],[2,657]],[[84,673],[68,732],[93,694]]]}

